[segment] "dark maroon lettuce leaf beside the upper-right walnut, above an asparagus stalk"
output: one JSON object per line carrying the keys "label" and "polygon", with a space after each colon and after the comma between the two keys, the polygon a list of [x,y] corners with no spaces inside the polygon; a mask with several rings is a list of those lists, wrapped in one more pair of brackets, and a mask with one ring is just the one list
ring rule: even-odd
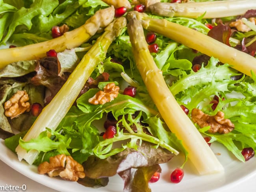
{"label": "dark maroon lettuce leaf beside the upper-right walnut, above an asparagus stalk", "polygon": [[208,32],[208,36],[230,46],[229,38],[231,36],[231,33],[232,32],[229,26],[226,26],[224,24],[218,24]]}

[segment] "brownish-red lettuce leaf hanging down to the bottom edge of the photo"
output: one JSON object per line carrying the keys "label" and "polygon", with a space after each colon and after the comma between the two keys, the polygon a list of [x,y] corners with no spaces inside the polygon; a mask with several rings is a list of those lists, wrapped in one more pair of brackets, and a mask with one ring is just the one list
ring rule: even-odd
{"label": "brownish-red lettuce leaf hanging down to the bottom edge of the photo", "polygon": [[151,192],[148,181],[155,172],[161,172],[159,164],[120,172],[119,175],[124,180],[123,192]]}

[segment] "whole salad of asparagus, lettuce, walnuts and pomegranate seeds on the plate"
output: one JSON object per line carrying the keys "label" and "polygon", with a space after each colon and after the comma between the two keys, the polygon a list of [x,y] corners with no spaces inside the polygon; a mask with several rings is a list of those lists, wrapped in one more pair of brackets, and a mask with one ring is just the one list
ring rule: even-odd
{"label": "whole salad of asparagus, lettuce, walnuts and pomegranate seeds on the plate", "polygon": [[254,157],[254,1],[0,0],[0,43],[0,138],[40,174],[150,191],[178,154],[170,182],[223,171],[213,142]]}

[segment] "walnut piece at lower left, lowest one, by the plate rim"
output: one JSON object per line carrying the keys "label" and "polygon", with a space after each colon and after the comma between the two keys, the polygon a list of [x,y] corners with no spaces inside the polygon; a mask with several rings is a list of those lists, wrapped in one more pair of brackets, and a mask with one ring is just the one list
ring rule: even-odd
{"label": "walnut piece at lower left, lowest one, by the plate rim", "polygon": [[83,166],[75,161],[71,156],[64,154],[50,157],[50,163],[45,161],[38,166],[39,174],[48,174],[50,177],[60,176],[68,181],[78,181],[84,178]]}

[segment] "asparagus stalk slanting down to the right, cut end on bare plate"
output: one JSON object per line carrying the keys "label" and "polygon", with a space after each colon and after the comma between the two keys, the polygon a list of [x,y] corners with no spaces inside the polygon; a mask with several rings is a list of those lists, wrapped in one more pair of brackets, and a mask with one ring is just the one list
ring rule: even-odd
{"label": "asparagus stalk slanting down to the right, cut end on bare plate", "polygon": [[156,66],[148,50],[141,23],[132,12],[128,13],[128,20],[128,33],[137,69],[163,120],[169,129],[182,140],[182,144],[189,153],[188,157],[199,174],[223,171],[223,166],[167,87],[161,70]]}

